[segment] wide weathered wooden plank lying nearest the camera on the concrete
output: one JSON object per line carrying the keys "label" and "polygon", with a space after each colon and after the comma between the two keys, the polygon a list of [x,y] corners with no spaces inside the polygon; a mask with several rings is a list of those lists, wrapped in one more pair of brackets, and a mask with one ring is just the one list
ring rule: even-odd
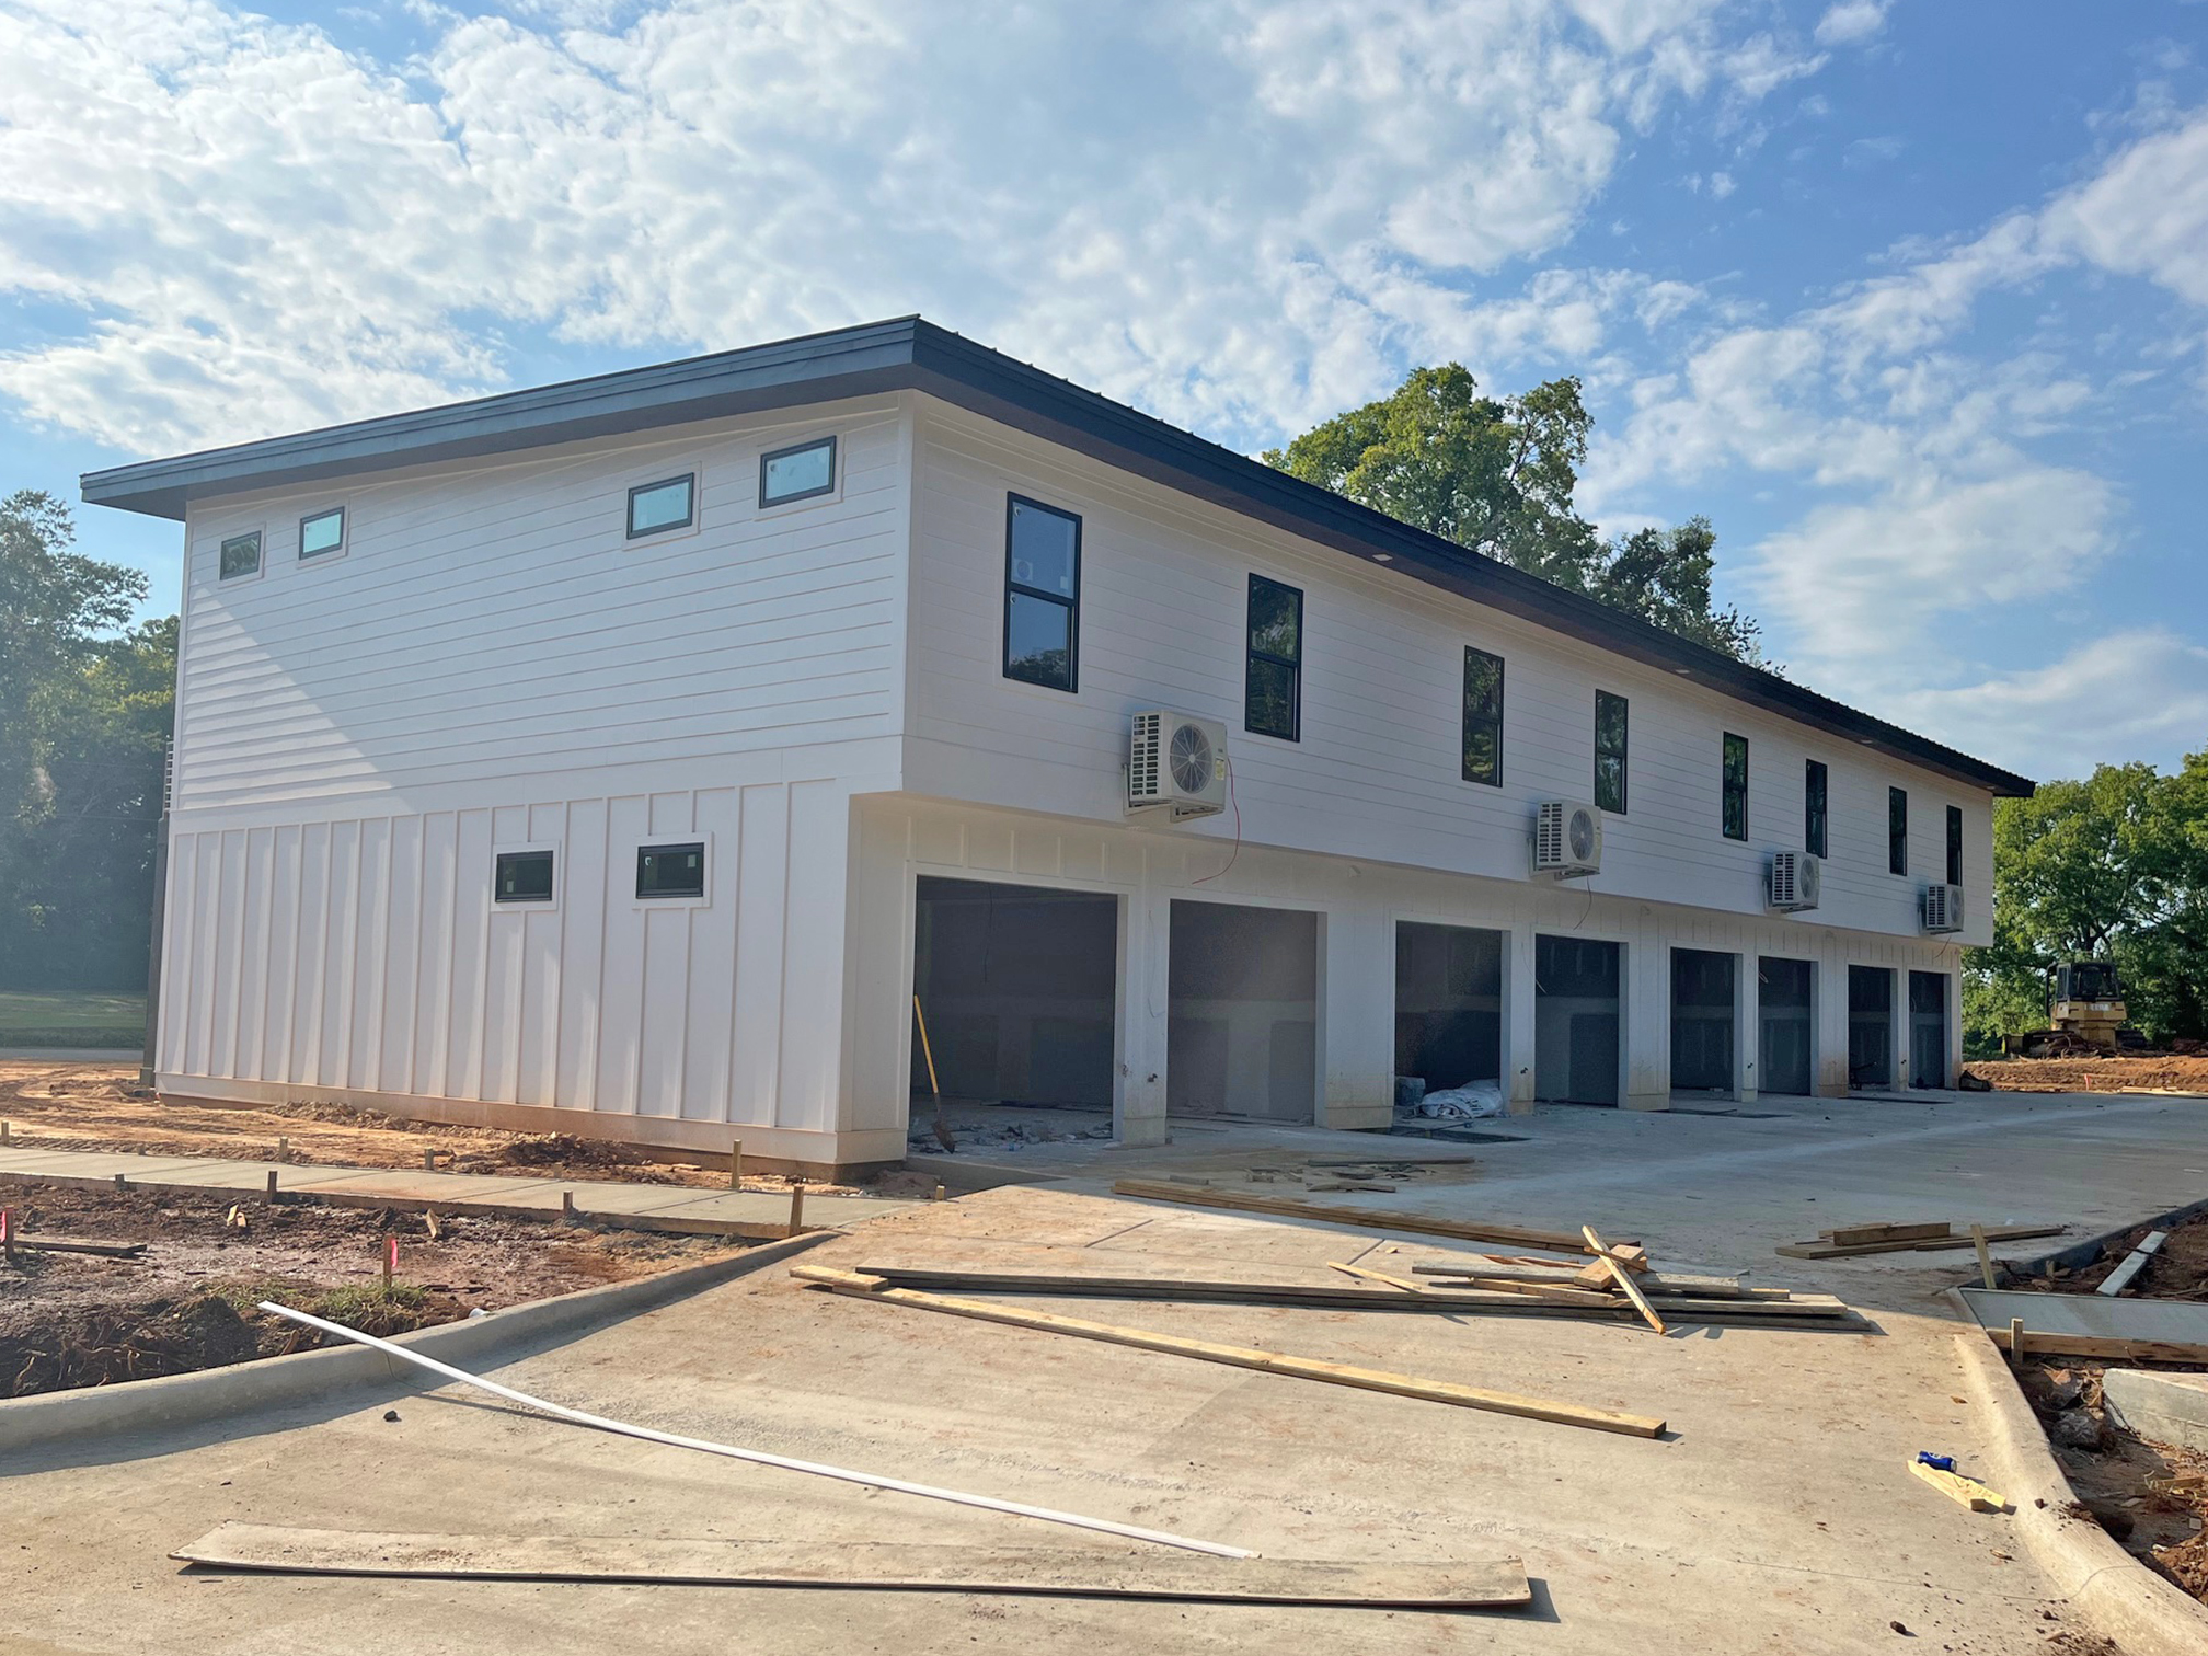
{"label": "wide weathered wooden plank lying nearest the camera on the concrete", "polygon": [[404,1535],[294,1530],[269,1524],[221,1524],[170,1557],[201,1568],[278,1574],[1005,1592],[1051,1599],[1175,1599],[1367,1610],[1497,1610],[1532,1599],[1526,1565],[1508,1557],[1462,1563],[1347,1563],[890,1541],[804,1546],[629,1535]]}

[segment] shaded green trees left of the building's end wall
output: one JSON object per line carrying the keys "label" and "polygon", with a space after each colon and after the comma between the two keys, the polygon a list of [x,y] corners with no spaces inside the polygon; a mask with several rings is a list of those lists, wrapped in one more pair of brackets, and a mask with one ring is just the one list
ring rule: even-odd
{"label": "shaded green trees left of the building's end wall", "polygon": [[0,501],[0,987],[144,983],[177,620],[121,631],[146,576]]}

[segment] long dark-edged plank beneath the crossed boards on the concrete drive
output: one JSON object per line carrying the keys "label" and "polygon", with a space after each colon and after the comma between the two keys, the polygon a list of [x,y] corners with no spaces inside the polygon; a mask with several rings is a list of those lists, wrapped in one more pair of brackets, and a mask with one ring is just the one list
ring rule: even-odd
{"label": "long dark-edged plank beneath the crossed boards on the concrete drive", "polygon": [[[1362,1272],[1362,1267],[1360,1267]],[[790,1276],[808,1283],[841,1283],[852,1272],[832,1265],[793,1265]],[[1382,1294],[1369,1287],[1323,1287],[1314,1283],[1250,1283],[1210,1281],[1188,1276],[1086,1276],[1069,1272],[987,1272],[936,1265],[879,1265],[857,1267],[866,1276],[890,1287],[958,1289],[967,1294],[1049,1294],[1058,1298],[1111,1298],[1111,1301],[1188,1301],[1219,1305],[1285,1305],[1325,1312],[1475,1312],[1486,1316],[1585,1316],[1585,1318],[1638,1318],[1634,1307],[1616,1294],[1588,1294],[1583,1289],[1548,1289],[1541,1294],[1462,1289],[1440,1283],[1424,1294]],[[1570,1298],[1561,1298],[1570,1294]],[[1656,1301],[1678,1318],[1707,1323],[1711,1318],[1833,1318],[1853,1316],[1846,1301],[1830,1294],[1802,1294],[1784,1301],[1733,1301],[1669,1296]]]}

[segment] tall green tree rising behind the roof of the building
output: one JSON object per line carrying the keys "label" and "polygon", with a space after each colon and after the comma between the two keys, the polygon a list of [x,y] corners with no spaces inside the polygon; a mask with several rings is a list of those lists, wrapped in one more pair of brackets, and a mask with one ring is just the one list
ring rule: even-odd
{"label": "tall green tree rising behind the roof of the building", "polygon": [[1711,609],[1718,537],[1709,519],[1603,541],[1579,514],[1574,492],[1592,426],[1579,380],[1490,397],[1448,362],[1413,369],[1391,395],[1340,413],[1263,459],[1482,556],[1769,667],[1758,623],[1738,609]]}

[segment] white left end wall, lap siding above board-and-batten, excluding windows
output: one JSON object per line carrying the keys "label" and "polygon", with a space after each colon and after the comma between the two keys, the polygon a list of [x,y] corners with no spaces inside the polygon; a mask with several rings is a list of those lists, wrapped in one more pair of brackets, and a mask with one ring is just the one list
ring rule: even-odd
{"label": "white left end wall, lap siding above board-and-batten, excluding windows", "polygon": [[[567,1106],[700,1150],[835,1133],[850,795],[896,786],[907,431],[883,397],[194,508],[163,1086]],[[839,490],[757,510],[760,453],[826,433]],[[687,470],[696,528],[631,543],[627,490]],[[300,563],[333,503],[344,554]],[[252,528],[263,572],[219,581]],[[638,901],[636,846],[684,839],[707,901]],[[490,901],[519,846],[556,848],[552,903]]]}

